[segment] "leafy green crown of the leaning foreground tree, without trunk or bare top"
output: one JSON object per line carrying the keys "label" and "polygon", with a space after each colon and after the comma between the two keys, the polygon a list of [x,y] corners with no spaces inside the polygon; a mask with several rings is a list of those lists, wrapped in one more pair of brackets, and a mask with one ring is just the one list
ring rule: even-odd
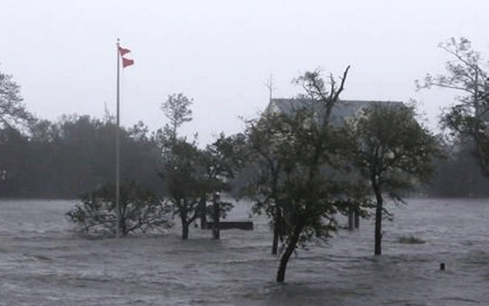
{"label": "leafy green crown of the leaning foreground tree, without trunk or bare top", "polygon": [[366,215],[367,205],[357,182],[340,179],[334,162],[340,141],[333,127],[312,116],[304,108],[289,115],[265,113],[248,122],[250,150],[259,167],[251,185],[253,212],[268,216],[286,243],[297,220],[306,220],[301,246],[330,237],[339,226],[337,213],[354,208]]}

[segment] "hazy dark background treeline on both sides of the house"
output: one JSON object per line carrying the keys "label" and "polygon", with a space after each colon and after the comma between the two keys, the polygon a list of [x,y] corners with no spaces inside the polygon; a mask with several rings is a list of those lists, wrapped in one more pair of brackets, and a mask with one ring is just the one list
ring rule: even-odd
{"label": "hazy dark background treeline on both sides of the house", "polygon": [[[38,120],[30,133],[6,126],[0,130],[0,196],[77,198],[115,181],[116,125],[110,118],[63,116]],[[121,180],[134,180],[156,194],[166,188],[157,171],[162,158],[157,133],[139,122],[120,128]],[[445,144],[446,158],[437,161],[431,183],[420,189],[432,197],[488,196],[486,179],[468,141]],[[233,180],[234,190],[254,175],[253,165]]]}

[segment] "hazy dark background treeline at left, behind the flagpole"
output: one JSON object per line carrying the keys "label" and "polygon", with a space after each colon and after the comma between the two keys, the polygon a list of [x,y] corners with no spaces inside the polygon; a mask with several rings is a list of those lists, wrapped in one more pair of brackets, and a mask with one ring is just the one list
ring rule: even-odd
{"label": "hazy dark background treeline at left, behind the flagpole", "polygon": [[[84,116],[57,122],[36,120],[28,133],[0,130],[0,196],[76,198],[115,181],[116,125]],[[135,180],[161,193],[156,170],[161,158],[148,128],[139,122],[120,128],[121,180]]]}

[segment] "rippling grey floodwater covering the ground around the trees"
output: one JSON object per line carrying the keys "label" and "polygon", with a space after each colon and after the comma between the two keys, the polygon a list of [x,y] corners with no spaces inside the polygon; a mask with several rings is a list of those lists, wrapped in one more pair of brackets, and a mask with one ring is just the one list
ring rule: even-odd
{"label": "rippling grey floodwater covering the ground around the trees", "polygon": [[[373,256],[373,220],[292,256],[286,283],[262,218],[221,240],[192,228],[124,239],[72,231],[73,201],[0,201],[0,305],[487,305],[489,201],[410,199],[383,224]],[[228,219],[247,219],[240,201]],[[342,219],[343,220],[343,219]],[[177,221],[177,220],[176,220]],[[399,243],[414,236],[423,244]],[[440,271],[440,263],[446,270]]]}

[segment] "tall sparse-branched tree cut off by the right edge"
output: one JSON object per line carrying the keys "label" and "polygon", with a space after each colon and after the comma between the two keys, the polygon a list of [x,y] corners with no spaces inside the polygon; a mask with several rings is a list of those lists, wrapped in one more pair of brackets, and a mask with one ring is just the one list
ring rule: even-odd
{"label": "tall sparse-branched tree cut off by the right edge", "polygon": [[423,82],[416,81],[417,89],[439,87],[463,93],[444,111],[441,122],[454,135],[474,141],[474,154],[489,177],[489,62],[484,62],[464,37],[451,38],[439,46],[453,57],[446,62],[446,74],[427,74]]}

